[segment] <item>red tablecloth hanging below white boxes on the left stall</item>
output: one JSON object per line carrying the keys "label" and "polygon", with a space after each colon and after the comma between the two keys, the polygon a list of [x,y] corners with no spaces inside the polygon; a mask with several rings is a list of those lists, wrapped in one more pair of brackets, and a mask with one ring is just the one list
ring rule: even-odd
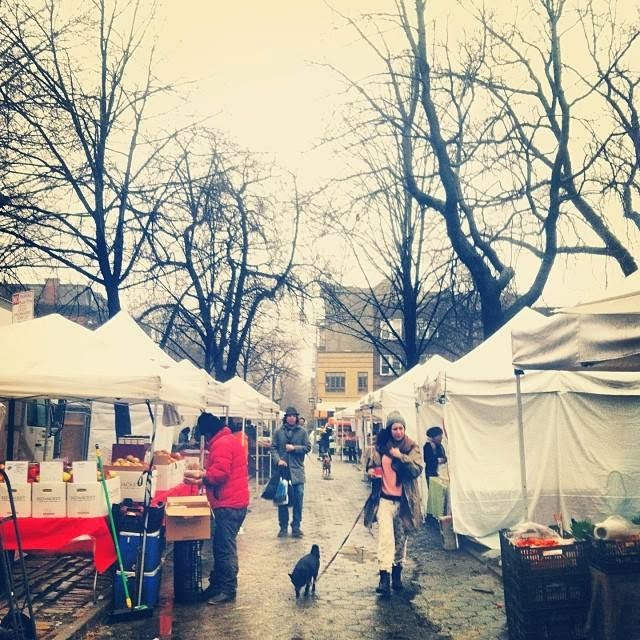
{"label": "red tablecloth hanging below white boxes on the left stall", "polygon": [[[116,550],[106,517],[100,518],[18,518],[22,548],[56,553],[93,552],[99,573],[116,561]],[[89,536],[90,540],[76,540]],[[2,541],[6,549],[15,549],[13,522],[2,524]]]}

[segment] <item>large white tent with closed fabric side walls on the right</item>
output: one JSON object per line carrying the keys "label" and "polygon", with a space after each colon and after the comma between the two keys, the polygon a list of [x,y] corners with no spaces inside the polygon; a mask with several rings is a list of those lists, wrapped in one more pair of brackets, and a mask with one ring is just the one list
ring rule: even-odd
{"label": "large white tent with closed fabric side walls on the right", "polygon": [[[458,533],[483,538],[512,526],[527,501],[536,522],[640,511],[640,376],[528,372],[518,428],[511,332],[539,321],[523,310],[439,378]],[[618,442],[607,446],[612,424]]]}

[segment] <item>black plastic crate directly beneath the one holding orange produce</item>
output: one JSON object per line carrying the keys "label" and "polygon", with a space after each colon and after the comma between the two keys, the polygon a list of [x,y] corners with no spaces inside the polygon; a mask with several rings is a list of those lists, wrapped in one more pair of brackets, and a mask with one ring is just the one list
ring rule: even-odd
{"label": "black plastic crate directly beneath the one holding orange produce", "polygon": [[[504,575],[504,574],[503,574]],[[504,597],[520,611],[588,605],[591,576],[587,572],[530,575],[525,579],[504,576]]]}

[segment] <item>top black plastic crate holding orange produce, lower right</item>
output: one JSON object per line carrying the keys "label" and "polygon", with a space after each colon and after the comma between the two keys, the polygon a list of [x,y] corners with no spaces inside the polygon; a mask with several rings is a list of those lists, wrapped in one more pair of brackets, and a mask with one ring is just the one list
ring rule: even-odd
{"label": "top black plastic crate holding orange produce, lower right", "polygon": [[507,530],[500,531],[500,551],[502,556],[502,574],[525,579],[531,575],[558,571],[587,572],[588,543],[575,540],[572,544],[553,547],[516,547],[507,538]]}

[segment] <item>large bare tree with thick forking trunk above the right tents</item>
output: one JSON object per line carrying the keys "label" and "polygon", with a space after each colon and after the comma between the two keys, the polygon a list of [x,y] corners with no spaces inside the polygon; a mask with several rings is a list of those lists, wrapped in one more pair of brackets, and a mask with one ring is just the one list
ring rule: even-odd
{"label": "large bare tree with thick forking trunk above the right tents", "polygon": [[[424,0],[347,19],[380,61],[369,84],[343,76],[363,104],[362,121],[400,138],[405,187],[444,225],[479,296],[485,335],[540,297],[562,253],[636,268],[573,168],[572,127],[585,92],[568,96],[565,4],[532,0],[524,21],[507,25],[477,10],[479,36],[458,43],[437,39]],[[398,31],[405,47],[394,51],[389,34]],[[537,266],[515,291],[520,251]]]}

